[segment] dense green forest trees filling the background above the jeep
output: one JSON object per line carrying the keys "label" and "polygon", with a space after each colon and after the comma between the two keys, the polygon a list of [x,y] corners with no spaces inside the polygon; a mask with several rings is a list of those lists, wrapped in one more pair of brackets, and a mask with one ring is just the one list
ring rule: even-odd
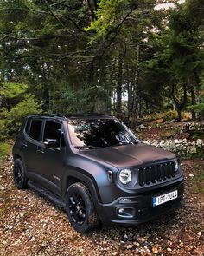
{"label": "dense green forest trees filling the background above the jeep", "polygon": [[[202,0],[171,10],[155,10],[156,0],[51,2],[0,1],[0,106],[9,122],[27,114],[18,104],[29,94],[46,112],[115,114],[122,94],[130,116],[196,103],[191,93],[204,69]],[[0,122],[1,131],[7,127]]]}

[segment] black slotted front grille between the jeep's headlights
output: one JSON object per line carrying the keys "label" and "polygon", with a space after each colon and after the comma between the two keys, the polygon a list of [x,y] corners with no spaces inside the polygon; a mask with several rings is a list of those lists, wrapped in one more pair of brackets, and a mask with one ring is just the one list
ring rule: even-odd
{"label": "black slotted front grille between the jeep's headlights", "polygon": [[159,181],[169,180],[175,177],[175,161],[169,161],[150,167],[139,168],[139,185],[150,185]]}

